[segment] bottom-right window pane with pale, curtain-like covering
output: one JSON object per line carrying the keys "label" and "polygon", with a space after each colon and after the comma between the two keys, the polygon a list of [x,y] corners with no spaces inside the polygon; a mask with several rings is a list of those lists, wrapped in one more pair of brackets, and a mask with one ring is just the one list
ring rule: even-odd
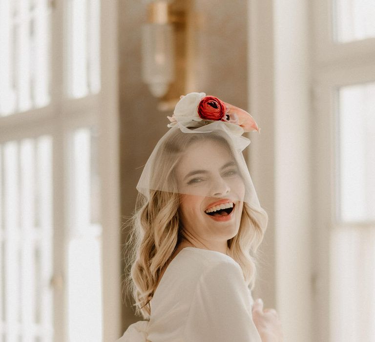
{"label": "bottom-right window pane with pale, curtain-like covering", "polygon": [[330,341],[375,341],[374,260],[375,227],[333,230]]}

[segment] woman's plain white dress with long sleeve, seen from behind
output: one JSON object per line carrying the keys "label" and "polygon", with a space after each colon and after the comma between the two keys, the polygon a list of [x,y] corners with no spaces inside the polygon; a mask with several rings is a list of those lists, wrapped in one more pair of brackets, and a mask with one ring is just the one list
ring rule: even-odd
{"label": "woman's plain white dress with long sleeve, seen from behind", "polygon": [[261,342],[252,304],[236,261],[185,247],[160,280],[150,320],[131,324],[117,342]]}

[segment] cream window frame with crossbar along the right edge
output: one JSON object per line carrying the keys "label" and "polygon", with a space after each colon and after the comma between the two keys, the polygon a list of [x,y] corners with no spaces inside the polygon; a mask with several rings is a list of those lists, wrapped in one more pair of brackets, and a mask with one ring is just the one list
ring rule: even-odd
{"label": "cream window frame with crossbar along the right edge", "polygon": [[[345,85],[375,82],[375,38],[336,44],[331,40],[333,0],[316,0],[313,13],[313,179],[314,251],[316,274],[313,341],[330,337],[330,238],[336,222],[335,175],[337,144],[337,89]],[[355,125],[355,122],[354,122]],[[354,127],[355,129],[355,127]],[[361,225],[356,225],[361,228]],[[367,228],[367,225],[364,225]]]}

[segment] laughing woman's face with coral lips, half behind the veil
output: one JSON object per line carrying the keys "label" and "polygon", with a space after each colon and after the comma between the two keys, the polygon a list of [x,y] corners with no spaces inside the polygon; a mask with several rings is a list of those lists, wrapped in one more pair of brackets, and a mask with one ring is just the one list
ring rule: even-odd
{"label": "laughing woman's face with coral lips, half behind the veil", "polygon": [[223,143],[207,140],[189,145],[176,175],[180,219],[190,235],[204,243],[229,240],[238,233],[245,186]]}

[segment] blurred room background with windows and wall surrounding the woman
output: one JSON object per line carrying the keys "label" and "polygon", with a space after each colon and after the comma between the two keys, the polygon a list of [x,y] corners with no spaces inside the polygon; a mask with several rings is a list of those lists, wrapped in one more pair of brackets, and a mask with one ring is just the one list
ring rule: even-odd
{"label": "blurred room background with windows and wall surrounding the woman", "polygon": [[285,342],[375,342],[373,0],[0,0],[0,341],[112,342],[142,166],[180,95],[248,110]]}

